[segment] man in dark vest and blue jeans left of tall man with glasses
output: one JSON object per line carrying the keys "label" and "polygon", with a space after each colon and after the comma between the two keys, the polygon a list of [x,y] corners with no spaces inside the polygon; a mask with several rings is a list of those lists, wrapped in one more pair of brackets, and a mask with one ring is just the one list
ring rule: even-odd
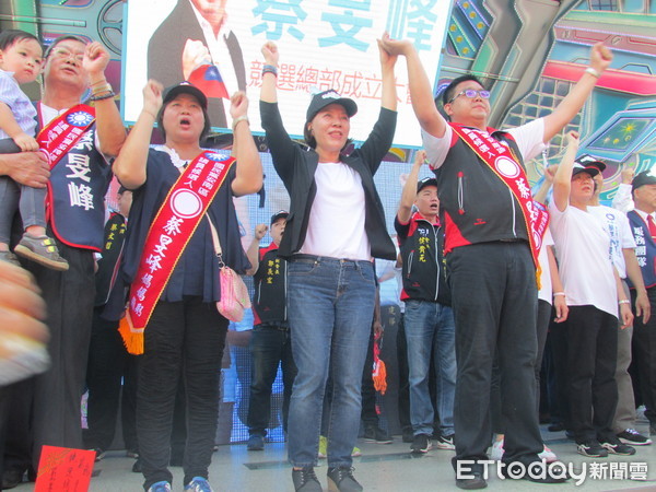
{"label": "man in dark vest and blue jeans left of tall man with glasses", "polygon": [[[441,449],[455,448],[455,323],[443,268],[444,232],[437,218],[437,183],[435,178],[423,178],[418,183],[424,160],[425,152],[418,152],[403,186],[395,220],[403,262],[401,301],[406,303],[410,421],[414,434],[411,449],[417,454],[426,453],[432,447],[434,410],[429,391],[431,362],[435,364],[438,388],[436,409],[441,435],[436,446]],[[418,209],[414,213],[412,204]]]}

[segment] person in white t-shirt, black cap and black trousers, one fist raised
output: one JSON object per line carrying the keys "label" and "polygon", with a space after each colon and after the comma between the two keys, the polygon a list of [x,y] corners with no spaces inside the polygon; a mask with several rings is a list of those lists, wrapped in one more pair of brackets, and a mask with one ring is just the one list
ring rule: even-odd
{"label": "person in white t-shirt, black cap and black trousers, one fist raised", "polygon": [[[633,455],[612,431],[618,402],[614,379],[618,350],[618,300],[621,328],[633,321],[630,301],[610,257],[610,236],[588,211],[597,167],[574,162],[578,134],[567,133],[567,149],[555,173],[551,233],[570,307],[567,342],[569,430],[577,450],[588,457]],[[594,412],[594,420],[593,420]]]}

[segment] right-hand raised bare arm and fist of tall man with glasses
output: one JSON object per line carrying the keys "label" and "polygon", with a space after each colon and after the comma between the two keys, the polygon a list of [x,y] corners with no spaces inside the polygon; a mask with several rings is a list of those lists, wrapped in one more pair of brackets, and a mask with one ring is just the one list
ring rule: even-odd
{"label": "right-hand raised bare arm and fist of tall man with glasses", "polygon": [[578,82],[570,93],[553,109],[553,113],[544,117],[544,140],[548,142],[559,133],[565,125],[581,110],[588,96],[591,94],[597,79],[610,66],[612,52],[602,43],[597,43],[590,49],[590,67],[581,75]]}

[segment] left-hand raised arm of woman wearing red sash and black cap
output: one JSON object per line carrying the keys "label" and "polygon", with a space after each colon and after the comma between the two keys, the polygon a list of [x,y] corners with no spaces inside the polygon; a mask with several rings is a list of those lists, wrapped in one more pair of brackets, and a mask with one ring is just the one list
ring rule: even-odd
{"label": "left-hand raised arm of woman wearing red sash and black cap", "polygon": [[143,108],[112,169],[122,186],[137,189],[145,183],[145,163],[153,126],[162,107],[162,84],[149,80],[143,87]]}

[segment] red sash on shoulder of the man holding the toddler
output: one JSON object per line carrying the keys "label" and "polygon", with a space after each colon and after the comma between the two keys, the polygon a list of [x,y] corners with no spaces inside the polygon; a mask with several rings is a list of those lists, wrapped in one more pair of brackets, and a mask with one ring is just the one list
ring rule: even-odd
{"label": "red sash on shoulder of the man holding the toddler", "polygon": [[95,109],[78,104],[42,128],[36,141],[48,157],[50,169],[78,144],[94,122]]}

